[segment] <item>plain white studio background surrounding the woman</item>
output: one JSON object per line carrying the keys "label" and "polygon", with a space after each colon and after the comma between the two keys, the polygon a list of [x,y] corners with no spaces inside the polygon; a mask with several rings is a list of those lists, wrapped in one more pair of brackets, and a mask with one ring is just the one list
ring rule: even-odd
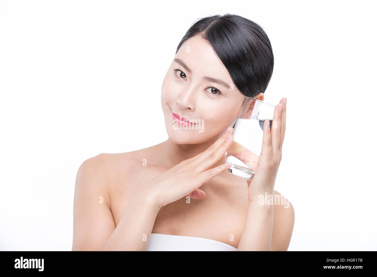
{"label": "plain white studio background surrounding the woman", "polygon": [[265,101],[288,98],[275,184],[296,214],[288,250],[377,250],[375,8],[0,1],[0,250],[70,251],[78,167],[167,139],[161,84],[176,47],[198,18],[225,13],[264,28]]}

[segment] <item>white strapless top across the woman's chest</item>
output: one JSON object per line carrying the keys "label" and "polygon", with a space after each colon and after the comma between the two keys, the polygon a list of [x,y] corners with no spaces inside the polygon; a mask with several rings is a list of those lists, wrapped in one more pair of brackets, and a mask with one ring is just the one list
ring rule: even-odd
{"label": "white strapless top across the woman's chest", "polygon": [[202,237],[152,233],[145,251],[237,251],[237,248],[224,242]]}

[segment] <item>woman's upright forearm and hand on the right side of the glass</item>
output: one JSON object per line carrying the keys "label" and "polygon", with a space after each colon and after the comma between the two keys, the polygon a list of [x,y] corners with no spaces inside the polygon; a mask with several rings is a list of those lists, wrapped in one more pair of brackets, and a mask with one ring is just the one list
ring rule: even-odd
{"label": "woman's upright forearm and hand on the right side of the glass", "polygon": [[[253,178],[247,180],[249,186],[249,209],[238,250],[271,250],[275,204],[273,192],[277,171],[282,158],[282,145],[286,129],[286,105],[287,98],[282,98],[280,103],[276,105],[271,129],[270,121],[265,120],[264,122],[261,155],[258,158]],[[247,163],[245,162],[245,164]],[[265,197],[266,194],[267,197]],[[270,204],[268,197],[271,196],[273,198]],[[259,201],[259,199],[265,199],[265,201]],[[280,210],[281,209],[279,209],[279,211]],[[293,211],[293,208],[291,208],[291,211]],[[289,230],[290,227],[285,229]],[[289,240],[290,237],[291,234],[289,235]],[[278,237],[278,239],[280,240],[280,237]],[[289,241],[288,244],[285,244],[288,248]],[[281,247],[284,248],[285,246],[279,246],[277,249]]]}

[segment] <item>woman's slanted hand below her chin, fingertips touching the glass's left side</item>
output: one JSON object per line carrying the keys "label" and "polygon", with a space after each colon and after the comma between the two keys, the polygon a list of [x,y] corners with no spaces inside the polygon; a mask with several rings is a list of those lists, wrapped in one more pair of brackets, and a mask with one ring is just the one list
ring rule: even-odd
{"label": "woman's slanted hand below her chin, fingertips touching the glass's left side", "polygon": [[228,127],[227,131],[207,150],[141,184],[139,191],[142,191],[142,195],[151,199],[159,208],[184,196],[203,199],[205,192],[199,190],[199,187],[231,166],[231,163],[228,163],[212,168],[232,144],[232,132],[233,128]]}

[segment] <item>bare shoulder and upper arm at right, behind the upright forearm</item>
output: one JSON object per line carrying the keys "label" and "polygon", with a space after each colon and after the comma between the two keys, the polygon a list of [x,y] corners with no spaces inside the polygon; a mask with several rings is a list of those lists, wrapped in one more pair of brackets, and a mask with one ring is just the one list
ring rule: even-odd
{"label": "bare shoulder and upper arm at right, behind the upright forearm", "polygon": [[274,216],[271,251],[287,251],[294,226],[292,203],[279,191],[274,190]]}

